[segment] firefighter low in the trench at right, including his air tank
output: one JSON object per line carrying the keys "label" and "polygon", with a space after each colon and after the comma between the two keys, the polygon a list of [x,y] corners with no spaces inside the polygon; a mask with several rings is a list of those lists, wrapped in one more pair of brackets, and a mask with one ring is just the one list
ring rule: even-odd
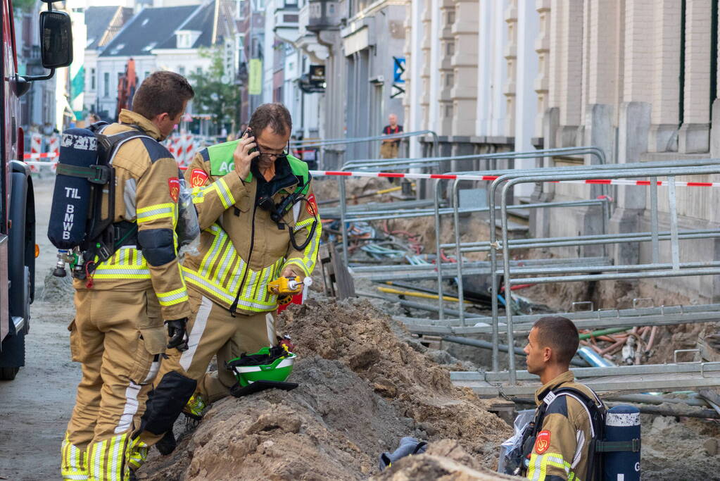
{"label": "firefighter low in the trench at right, including his air tank", "polygon": [[524,350],[528,372],[543,386],[535,392],[536,410],[521,412],[516,435],[503,443],[498,470],[537,481],[639,481],[639,410],[606,410],[593,390],[575,382],[570,360],[578,345],[567,318],[547,316],[533,325]]}

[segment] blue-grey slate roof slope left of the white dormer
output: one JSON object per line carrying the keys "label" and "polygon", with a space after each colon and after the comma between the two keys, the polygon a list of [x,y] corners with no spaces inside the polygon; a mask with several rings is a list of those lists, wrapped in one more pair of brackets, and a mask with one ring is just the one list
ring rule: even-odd
{"label": "blue-grey slate roof slope left of the white dormer", "polygon": [[166,48],[175,48],[175,31],[198,9],[202,7],[188,5],[143,9],[112,39],[100,56],[150,55],[150,50],[160,48],[170,39],[173,40],[172,46]]}

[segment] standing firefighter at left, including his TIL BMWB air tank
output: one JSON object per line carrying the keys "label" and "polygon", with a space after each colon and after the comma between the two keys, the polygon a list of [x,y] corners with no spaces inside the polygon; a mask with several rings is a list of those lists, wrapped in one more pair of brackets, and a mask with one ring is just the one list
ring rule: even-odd
{"label": "standing firefighter at left, including his TIL BMWB air tank", "polygon": [[193,96],[184,77],[156,72],[120,122],[63,132],[48,237],[61,249],[55,275],[68,261],[75,278],[70,345],[82,363],[64,480],[131,476],[148,446],[130,434],[161,356],[166,346],[186,349],[190,304],[177,251],[199,225],[192,202],[182,206],[189,192],[177,163],[158,142]]}

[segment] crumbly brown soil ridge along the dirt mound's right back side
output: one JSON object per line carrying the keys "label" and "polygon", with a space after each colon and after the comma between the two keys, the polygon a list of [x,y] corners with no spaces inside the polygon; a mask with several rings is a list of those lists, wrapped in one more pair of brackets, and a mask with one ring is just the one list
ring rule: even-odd
{"label": "crumbly brown soil ridge along the dirt mound's right back side", "polygon": [[307,304],[285,311],[281,331],[297,341],[298,354],[338,359],[370,382],[375,392],[421,423],[430,439],[457,439],[485,466],[495,462],[510,428],[472,390],[450,382],[429,356],[397,338],[390,319],[367,300]]}

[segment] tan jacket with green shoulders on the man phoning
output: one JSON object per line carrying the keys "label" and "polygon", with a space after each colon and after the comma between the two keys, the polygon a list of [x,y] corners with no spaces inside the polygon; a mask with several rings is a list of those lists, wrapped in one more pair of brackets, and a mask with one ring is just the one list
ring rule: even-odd
{"label": "tan jacket with green shoulders on the man phoning", "polygon": [[[281,229],[256,202],[265,180],[253,174],[241,180],[235,172],[236,145],[237,141],[201,150],[185,172],[202,233],[197,251],[186,254],[183,273],[190,289],[228,309],[236,302],[240,312],[275,310],[277,297],[267,292],[267,284],[287,266],[301,278],[315,268],[321,230],[318,207],[308,182],[302,189],[306,200],[284,213]],[[292,156],[279,158],[275,169],[270,185],[262,187],[275,204],[309,179],[307,164]],[[289,230],[302,246],[314,222],[312,239],[298,251]]]}

